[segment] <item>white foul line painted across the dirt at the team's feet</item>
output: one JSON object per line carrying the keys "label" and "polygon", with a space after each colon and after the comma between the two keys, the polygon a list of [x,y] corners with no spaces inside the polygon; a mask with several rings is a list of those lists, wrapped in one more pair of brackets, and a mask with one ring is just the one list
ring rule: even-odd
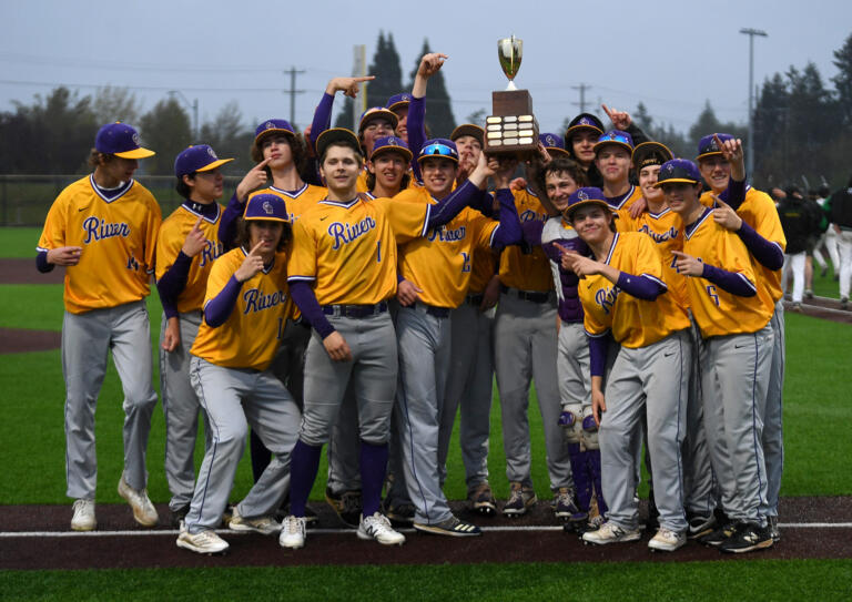
{"label": "white foul line painted across the dirt at the team's feet", "polygon": [[[852,522],[781,522],[783,529],[852,529]],[[516,526],[516,527],[481,527],[483,532],[546,532],[561,531],[561,527],[546,526]],[[398,529],[404,533],[414,533],[415,529]],[[149,535],[176,535],[178,529],[163,529],[152,531],[2,531],[0,539],[16,538],[112,538],[112,537],[149,537]],[[227,535],[244,535],[251,531],[232,531],[231,529],[217,529],[216,533]],[[308,534],[354,534],[355,529],[308,529]]]}

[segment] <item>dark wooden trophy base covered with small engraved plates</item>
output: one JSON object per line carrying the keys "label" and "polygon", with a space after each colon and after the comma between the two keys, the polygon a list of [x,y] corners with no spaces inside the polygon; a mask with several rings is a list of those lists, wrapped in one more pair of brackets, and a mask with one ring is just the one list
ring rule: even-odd
{"label": "dark wooden trophy base covered with small engraved plates", "polygon": [[494,114],[485,120],[485,152],[520,160],[538,153],[538,121],[528,90],[491,92]]}

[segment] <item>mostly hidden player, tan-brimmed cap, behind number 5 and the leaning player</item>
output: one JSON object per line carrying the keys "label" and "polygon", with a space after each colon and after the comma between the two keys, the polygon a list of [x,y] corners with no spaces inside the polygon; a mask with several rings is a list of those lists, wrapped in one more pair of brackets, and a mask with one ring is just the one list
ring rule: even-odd
{"label": "mostly hidden player, tan-brimmed cap, behind number 5 and the leaning player", "polygon": [[[681,251],[683,237],[680,233],[680,217],[666,205],[662,191],[657,187],[660,166],[672,159],[671,151],[659,142],[643,142],[633,149],[632,165],[642,191],[646,211],[636,218],[619,212],[618,227],[620,232],[641,232],[657,244],[660,255],[671,256],[671,251]],[[682,307],[689,307],[687,282],[679,276],[670,262],[663,262],[665,280],[668,295],[673,297]],[[713,473],[707,449],[707,437],[703,427],[703,407],[701,405],[698,344],[700,334],[692,324],[689,331],[692,363],[684,369],[684,378],[689,380],[689,397],[687,400],[687,436],[683,441],[683,507],[687,511],[687,537],[697,539],[703,537],[714,526],[713,509]],[[647,432],[647,431],[646,431]],[[646,435],[646,448],[648,447]],[[646,461],[650,469],[650,463]],[[638,468],[638,463],[637,463]],[[637,478],[638,480],[638,478]],[[651,483],[651,500],[653,500],[653,483]]]}

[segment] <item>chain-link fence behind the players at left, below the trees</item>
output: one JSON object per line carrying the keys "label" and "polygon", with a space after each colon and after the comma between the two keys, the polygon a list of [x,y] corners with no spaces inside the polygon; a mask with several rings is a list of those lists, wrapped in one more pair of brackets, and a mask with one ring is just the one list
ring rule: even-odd
{"label": "chain-link fence behind the players at left, below the trees", "polygon": [[[2,175],[0,174],[0,226],[42,226],[48,210],[62,188],[83,175]],[[173,212],[183,198],[174,191],[174,176],[141,175],[136,180],[160,203],[163,217]],[[226,204],[240,177],[225,177]]]}

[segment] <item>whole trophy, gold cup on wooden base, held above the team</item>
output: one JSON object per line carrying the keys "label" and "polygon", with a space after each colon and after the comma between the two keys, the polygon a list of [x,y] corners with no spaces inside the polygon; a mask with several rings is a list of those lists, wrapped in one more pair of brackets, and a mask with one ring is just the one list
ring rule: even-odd
{"label": "whole trophy, gold cup on wooden base, held above the team", "polygon": [[524,55],[524,41],[515,35],[498,40],[497,55],[509,85],[503,92],[491,92],[494,114],[485,120],[485,151],[528,159],[538,152],[538,122],[532,115],[529,91],[518,90],[514,82]]}

